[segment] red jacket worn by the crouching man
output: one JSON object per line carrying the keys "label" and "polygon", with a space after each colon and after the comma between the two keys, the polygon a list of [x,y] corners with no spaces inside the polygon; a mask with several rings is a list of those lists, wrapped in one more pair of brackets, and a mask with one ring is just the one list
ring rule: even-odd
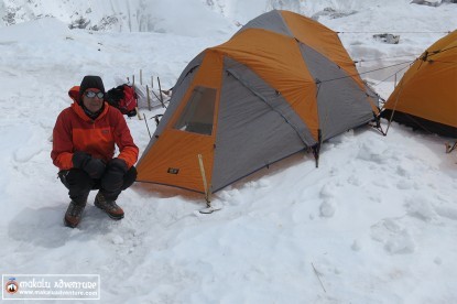
{"label": "red jacket worn by the crouching man", "polygon": [[104,111],[93,120],[74,102],[57,117],[51,158],[59,170],[73,167],[76,151],[108,162],[115,155],[115,144],[120,151],[118,159],[124,160],[130,169],[138,160],[138,146],[122,113],[105,102]]}

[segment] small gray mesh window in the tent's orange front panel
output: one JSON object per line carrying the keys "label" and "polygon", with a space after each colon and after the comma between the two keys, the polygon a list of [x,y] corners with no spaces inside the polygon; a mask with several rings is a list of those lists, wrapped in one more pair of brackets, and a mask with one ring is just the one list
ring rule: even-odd
{"label": "small gray mesh window in the tent's orange front panel", "polygon": [[195,87],[174,128],[182,131],[210,135],[213,132],[215,104],[216,89]]}

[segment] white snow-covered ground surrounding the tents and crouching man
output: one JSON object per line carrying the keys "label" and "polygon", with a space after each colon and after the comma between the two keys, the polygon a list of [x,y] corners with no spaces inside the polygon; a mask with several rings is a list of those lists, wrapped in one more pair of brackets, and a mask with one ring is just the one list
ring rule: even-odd
{"label": "white snow-covered ground surrounding the tents and crouching man", "polygon": [[[145,22],[132,32],[119,24],[90,32],[68,29],[72,6],[87,1],[3,0],[0,17],[18,2],[22,20],[0,28],[1,273],[100,274],[102,303],[457,303],[449,139],[396,123],[387,137],[359,128],[325,143],[318,169],[311,154],[296,154],[220,191],[214,204],[224,208],[211,215],[196,211],[205,206],[199,194],[134,184],[118,200],[123,220],[89,204],[76,229],[63,226],[69,199],[50,158],[55,119],[84,75],[100,75],[110,88],[142,69],[170,88],[200,51],[272,8],[342,32],[359,68],[370,70],[412,61],[455,30],[457,4],[174,0],[148,9],[128,1],[130,14],[151,18],[126,19]],[[127,12],[127,1],[100,2],[87,14],[101,18],[104,6]],[[46,10],[56,19],[31,20]],[[400,34],[400,44],[372,39],[384,32]],[[387,98],[394,77],[381,80],[402,67],[362,76]],[[142,151],[144,120],[128,124]]]}

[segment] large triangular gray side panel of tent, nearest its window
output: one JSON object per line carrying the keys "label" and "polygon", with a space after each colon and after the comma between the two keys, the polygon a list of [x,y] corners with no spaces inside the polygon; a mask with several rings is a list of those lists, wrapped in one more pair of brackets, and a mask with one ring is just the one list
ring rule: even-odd
{"label": "large triangular gray side panel of tent, nearest its window", "polygon": [[[264,99],[282,102],[273,89],[264,94]],[[230,74],[224,76],[219,107],[213,192],[304,149],[284,117]],[[287,112],[295,116],[292,109]]]}

